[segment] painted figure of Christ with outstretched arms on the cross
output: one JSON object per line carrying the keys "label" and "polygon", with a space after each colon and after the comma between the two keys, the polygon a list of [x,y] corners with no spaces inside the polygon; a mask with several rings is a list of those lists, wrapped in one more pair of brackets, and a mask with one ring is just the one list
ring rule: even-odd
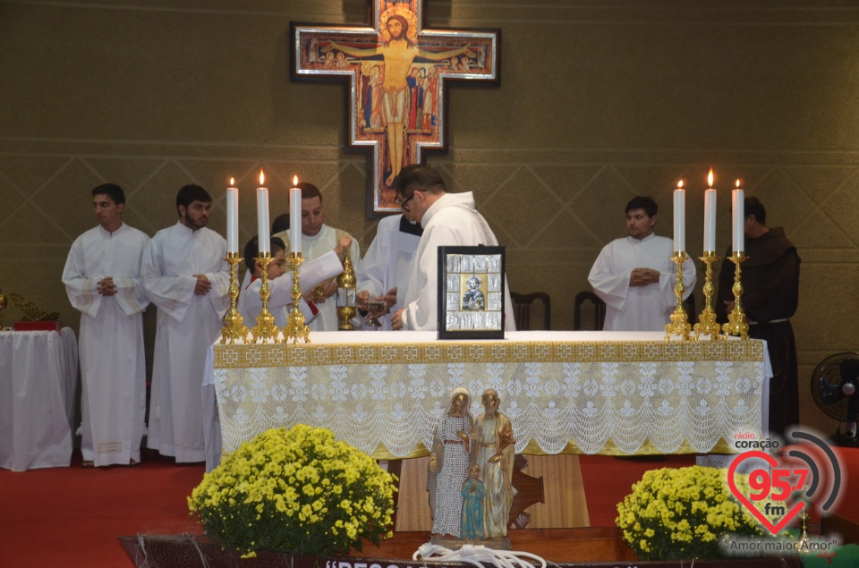
{"label": "painted figure of Christ with outstretched arms on the cross", "polygon": [[[380,22],[381,23],[381,22]],[[385,180],[390,186],[403,168],[404,128],[408,120],[408,75],[416,58],[427,61],[442,61],[465,55],[475,57],[476,52],[468,46],[448,51],[428,51],[414,43],[409,35],[409,21],[399,13],[390,14],[379,32],[378,47],[350,47],[330,41],[320,49],[322,53],[338,51],[359,59],[382,56],[385,64],[385,81],[382,83],[382,117],[387,129],[388,157],[391,174]],[[412,32],[412,36],[414,36]]]}

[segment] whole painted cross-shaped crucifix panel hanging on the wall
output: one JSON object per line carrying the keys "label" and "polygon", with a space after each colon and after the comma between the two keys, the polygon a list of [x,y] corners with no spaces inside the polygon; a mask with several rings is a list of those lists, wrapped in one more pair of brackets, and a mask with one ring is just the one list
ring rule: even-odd
{"label": "whole painted cross-shaped crucifix panel hanging on the wall", "polygon": [[372,0],[373,27],[292,23],[298,81],[345,81],[347,148],[370,154],[368,216],[399,212],[392,182],[447,150],[447,83],[499,81],[499,30],[424,30],[423,2]]}

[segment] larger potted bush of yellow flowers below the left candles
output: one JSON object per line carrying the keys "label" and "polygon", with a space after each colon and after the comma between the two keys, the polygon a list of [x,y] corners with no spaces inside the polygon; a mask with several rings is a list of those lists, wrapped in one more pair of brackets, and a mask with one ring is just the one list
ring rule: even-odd
{"label": "larger potted bush of yellow flowers below the left candles", "polygon": [[256,551],[346,554],[390,538],[395,477],[325,428],[272,428],[207,473],[188,498],[208,537]]}

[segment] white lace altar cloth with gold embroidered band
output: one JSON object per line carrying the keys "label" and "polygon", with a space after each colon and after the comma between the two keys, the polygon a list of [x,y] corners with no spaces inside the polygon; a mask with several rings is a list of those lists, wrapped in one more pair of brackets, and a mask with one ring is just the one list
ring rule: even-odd
{"label": "white lace altar cloth with gold embroidered band", "polygon": [[760,437],[766,343],[666,342],[659,333],[512,332],[501,341],[435,333],[318,333],[309,344],[216,344],[213,381],[228,454],[268,428],[324,426],[378,458],[426,454],[456,386],[494,388],[516,451],[736,451]]}

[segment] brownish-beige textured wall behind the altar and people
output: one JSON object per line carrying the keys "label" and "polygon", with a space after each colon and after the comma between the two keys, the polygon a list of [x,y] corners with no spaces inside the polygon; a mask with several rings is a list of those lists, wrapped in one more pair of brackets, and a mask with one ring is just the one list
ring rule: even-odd
{"label": "brownish-beige textured wall behind the altar and people", "polygon": [[[429,2],[432,26],[503,30],[500,87],[451,89],[450,152],[429,161],[453,191],[475,192],[511,287],[549,292],[557,329],[572,327],[601,246],[624,234],[626,200],[657,199],[668,234],[670,191],[685,178],[697,254],[714,166],[721,250],[728,189],[743,179],[803,258],[807,399],[819,360],[859,349],[859,11],[844,5]],[[77,326],[59,278],[93,225],[89,190],[105,181],[127,191],[126,221],[152,234],[174,223],[186,182],[217,196],[222,230],[229,176],[250,205],[260,166],[272,190],[298,174],[365,249],[375,222],[365,159],[343,149],[344,88],[293,83],[287,61],[289,21],[365,13],[360,0],[0,2],[0,289]],[[281,192],[272,209],[285,208]],[[242,240],[253,212],[242,207]],[[833,428],[810,400],[803,419]]]}

